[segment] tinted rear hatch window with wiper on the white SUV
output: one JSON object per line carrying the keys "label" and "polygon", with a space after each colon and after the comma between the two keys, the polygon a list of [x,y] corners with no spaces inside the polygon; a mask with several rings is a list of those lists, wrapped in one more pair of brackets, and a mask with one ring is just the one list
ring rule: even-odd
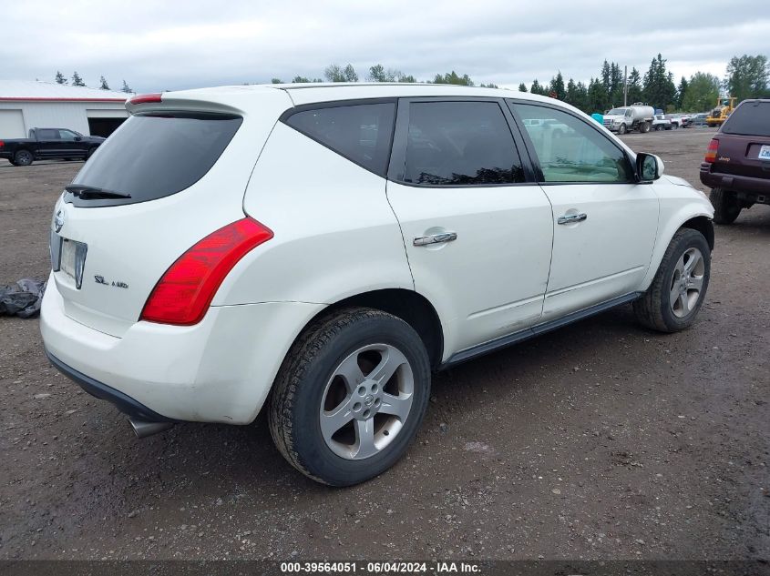
{"label": "tinted rear hatch window with wiper on the white SUV", "polygon": [[78,172],[67,187],[74,192],[64,199],[75,206],[101,207],[176,194],[214,166],[242,120],[200,113],[131,116]]}

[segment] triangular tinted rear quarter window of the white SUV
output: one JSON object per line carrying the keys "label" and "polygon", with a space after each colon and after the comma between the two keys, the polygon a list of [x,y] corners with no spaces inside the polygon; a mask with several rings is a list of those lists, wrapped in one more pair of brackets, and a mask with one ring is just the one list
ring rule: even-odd
{"label": "triangular tinted rear quarter window of the white SUV", "polygon": [[286,124],[360,164],[385,175],[395,104],[358,104],[303,110]]}

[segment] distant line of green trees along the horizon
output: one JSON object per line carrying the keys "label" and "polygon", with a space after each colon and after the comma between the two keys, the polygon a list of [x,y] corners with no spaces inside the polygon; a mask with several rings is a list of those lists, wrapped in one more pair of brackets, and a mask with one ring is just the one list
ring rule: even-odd
{"label": "distant line of green trees along the horizon", "polygon": [[[603,112],[614,106],[623,105],[623,91],[626,86],[624,69],[616,62],[604,60],[598,76],[591,77],[588,83],[569,78],[566,82],[561,71],[540,84],[535,78],[529,86],[523,82],[518,85],[520,92],[531,92],[542,96],[558,98],[580,108],[586,113]],[[358,73],[351,64],[340,66],[331,64],[323,70],[323,78],[294,76],[289,83],[313,82],[358,82]],[[407,75],[395,68],[385,68],[382,64],[370,66],[365,80],[369,82],[419,82],[415,76]],[[477,85],[467,74],[459,75],[455,70],[444,74],[437,73],[432,79],[423,80],[426,84],[452,84],[457,86],[480,86],[497,88],[492,83]],[[67,78],[56,72],[56,83],[68,84]],[[109,90],[104,76],[99,79],[100,88]],[[273,84],[284,84],[281,78],[272,78]],[[83,79],[74,72],[71,86],[86,86]],[[682,76],[678,84],[674,83],[673,74],[666,68],[666,59],[658,54],[652,58],[650,67],[642,72],[632,67],[628,74],[627,101],[645,102],[666,112],[677,110],[701,112],[716,104],[717,98],[724,93],[734,96],[740,102],[746,98],[770,97],[770,65],[767,56],[733,56],[727,65],[727,76],[720,79],[707,72],[696,72],[689,79]],[[122,92],[133,92],[123,80]]]}

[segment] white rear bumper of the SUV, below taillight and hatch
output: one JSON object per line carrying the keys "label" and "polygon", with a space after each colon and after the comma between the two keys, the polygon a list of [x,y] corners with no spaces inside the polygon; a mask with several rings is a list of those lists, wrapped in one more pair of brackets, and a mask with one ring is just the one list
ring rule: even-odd
{"label": "white rear bumper of the SUV, below taillight and hatch", "polygon": [[299,302],[211,307],[195,326],[136,322],[116,338],[67,317],[51,281],[40,331],[56,368],[132,416],[248,424],[293,340],[321,309]]}

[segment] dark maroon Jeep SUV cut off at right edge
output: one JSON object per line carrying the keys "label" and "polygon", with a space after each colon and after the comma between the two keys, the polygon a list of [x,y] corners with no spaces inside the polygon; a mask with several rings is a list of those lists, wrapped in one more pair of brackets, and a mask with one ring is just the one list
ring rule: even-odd
{"label": "dark maroon Jeep SUV cut off at right edge", "polygon": [[717,224],[732,224],[743,208],[770,204],[770,99],[735,108],[709,143],[701,182],[712,188]]}

